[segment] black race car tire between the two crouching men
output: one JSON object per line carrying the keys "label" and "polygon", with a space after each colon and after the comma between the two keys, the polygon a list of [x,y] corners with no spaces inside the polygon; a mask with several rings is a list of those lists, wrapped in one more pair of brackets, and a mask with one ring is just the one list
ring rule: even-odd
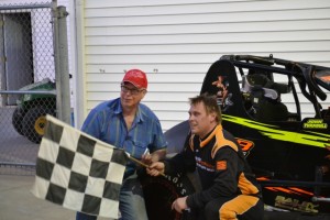
{"label": "black race car tire between the two crouching men", "polygon": [[146,211],[150,220],[193,220],[188,211],[178,213],[172,210],[172,202],[178,198],[195,193],[188,176],[168,176],[141,178]]}

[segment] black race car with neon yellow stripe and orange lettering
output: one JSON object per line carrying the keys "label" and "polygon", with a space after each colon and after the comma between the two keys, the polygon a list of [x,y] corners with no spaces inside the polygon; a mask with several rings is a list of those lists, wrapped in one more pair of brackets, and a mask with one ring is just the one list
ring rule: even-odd
{"label": "black race car with neon yellow stripe and orange lettering", "polygon": [[[330,219],[329,91],[330,67],[272,54],[224,55],[207,72],[200,94],[217,96],[223,128],[263,187],[264,219]],[[169,155],[188,132],[187,121],[165,132]],[[150,219],[194,219],[170,204],[198,187],[194,174],[144,178]]]}

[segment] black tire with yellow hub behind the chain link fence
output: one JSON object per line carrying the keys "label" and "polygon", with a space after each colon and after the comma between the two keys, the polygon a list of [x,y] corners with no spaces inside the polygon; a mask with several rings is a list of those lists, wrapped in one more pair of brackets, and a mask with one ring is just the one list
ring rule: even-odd
{"label": "black tire with yellow hub behind the chain link fence", "polygon": [[22,130],[25,138],[38,144],[44,134],[46,114],[55,116],[54,109],[36,107],[30,109],[23,118]]}

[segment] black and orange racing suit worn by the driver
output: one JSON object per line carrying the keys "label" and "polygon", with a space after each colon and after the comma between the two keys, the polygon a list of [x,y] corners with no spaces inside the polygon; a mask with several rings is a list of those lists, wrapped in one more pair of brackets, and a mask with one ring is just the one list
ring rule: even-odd
{"label": "black and orange racing suit worn by the driver", "polygon": [[189,195],[187,206],[204,210],[200,219],[263,219],[261,188],[235,139],[217,125],[206,139],[189,134],[185,150],[165,162],[165,173],[197,168],[201,190]]}

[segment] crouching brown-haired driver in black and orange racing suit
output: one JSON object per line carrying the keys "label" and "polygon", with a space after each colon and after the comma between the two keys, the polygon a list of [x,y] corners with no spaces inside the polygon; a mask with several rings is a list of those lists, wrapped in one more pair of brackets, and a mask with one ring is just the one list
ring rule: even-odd
{"label": "crouching brown-haired driver in black and orange racing suit", "polygon": [[172,208],[199,210],[202,220],[263,219],[261,188],[234,136],[222,129],[216,97],[190,99],[189,125],[184,151],[147,168],[150,175],[158,176],[197,167],[201,191],[177,198]]}

